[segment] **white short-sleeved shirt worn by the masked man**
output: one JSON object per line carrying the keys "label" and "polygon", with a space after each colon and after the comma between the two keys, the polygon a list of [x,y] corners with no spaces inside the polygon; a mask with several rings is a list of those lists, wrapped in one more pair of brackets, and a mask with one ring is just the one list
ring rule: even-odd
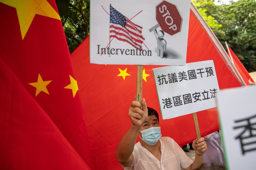
{"label": "white short-sleeved shirt worn by the masked man", "polygon": [[170,137],[161,137],[161,161],[144,148],[140,142],[136,143],[133,150],[134,160],[131,167],[125,170],[180,170],[190,166],[193,161],[186,155],[180,146]]}

